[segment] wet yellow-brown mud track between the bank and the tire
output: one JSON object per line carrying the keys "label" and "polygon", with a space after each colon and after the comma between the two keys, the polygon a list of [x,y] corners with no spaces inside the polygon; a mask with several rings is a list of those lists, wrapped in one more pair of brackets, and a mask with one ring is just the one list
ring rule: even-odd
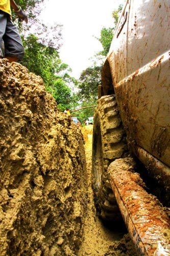
{"label": "wet yellow-brown mud track between the bank and the tire", "polygon": [[[136,256],[129,235],[121,230],[108,229],[96,216],[91,188],[92,125],[82,128],[85,138],[85,154],[88,183],[88,212],[84,220],[84,238],[78,256]],[[125,231],[125,230],[124,230]]]}

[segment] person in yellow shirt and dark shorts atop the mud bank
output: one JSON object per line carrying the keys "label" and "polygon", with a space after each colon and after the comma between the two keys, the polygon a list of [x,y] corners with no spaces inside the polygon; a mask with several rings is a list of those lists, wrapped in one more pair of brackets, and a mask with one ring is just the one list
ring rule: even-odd
{"label": "person in yellow shirt and dark shorts atop the mud bank", "polygon": [[24,56],[24,48],[18,29],[11,20],[11,7],[20,20],[28,23],[28,17],[14,0],[0,0],[0,58],[9,62],[20,61]]}

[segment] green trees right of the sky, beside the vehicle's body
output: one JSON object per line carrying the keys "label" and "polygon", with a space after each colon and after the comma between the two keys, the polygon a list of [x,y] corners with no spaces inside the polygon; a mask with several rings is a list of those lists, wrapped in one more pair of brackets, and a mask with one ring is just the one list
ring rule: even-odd
{"label": "green trees right of the sky, beside the vehicle's body", "polygon": [[[78,88],[79,88],[78,96],[79,96],[79,102],[81,106],[89,106],[89,105],[96,104],[96,100],[98,99],[98,86],[99,84],[101,84],[101,71],[102,71],[103,61],[107,53],[109,52],[109,48],[113,38],[114,30],[118,22],[118,16],[120,14],[120,11],[122,11],[122,5],[119,5],[118,9],[112,12],[112,16],[114,18],[113,27],[102,28],[101,37],[96,38],[101,42],[103,46],[103,50],[98,52],[94,56],[94,59],[93,59],[94,66],[87,68],[81,73],[81,76],[79,79],[80,82],[78,84]],[[98,65],[96,63],[98,63]],[[79,115],[80,119],[85,116],[87,118],[88,116],[93,115],[92,114],[93,112],[94,112],[94,109],[86,109],[85,111],[80,111],[79,113],[77,113],[77,115]]]}

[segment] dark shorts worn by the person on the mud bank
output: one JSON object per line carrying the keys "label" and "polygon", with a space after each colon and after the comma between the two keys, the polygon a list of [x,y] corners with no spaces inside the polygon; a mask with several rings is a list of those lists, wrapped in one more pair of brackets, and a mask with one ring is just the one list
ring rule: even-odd
{"label": "dark shorts worn by the person on the mud bank", "polygon": [[10,15],[0,10],[0,57],[16,57],[22,60],[24,48],[16,26]]}

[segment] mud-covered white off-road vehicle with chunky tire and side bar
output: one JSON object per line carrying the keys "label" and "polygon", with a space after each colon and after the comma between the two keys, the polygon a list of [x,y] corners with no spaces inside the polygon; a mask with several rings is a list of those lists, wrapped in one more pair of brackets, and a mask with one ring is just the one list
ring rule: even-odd
{"label": "mud-covered white off-road vehicle with chunky tire and side bar", "polygon": [[129,0],[102,70],[93,190],[139,255],[170,255],[170,1]]}

